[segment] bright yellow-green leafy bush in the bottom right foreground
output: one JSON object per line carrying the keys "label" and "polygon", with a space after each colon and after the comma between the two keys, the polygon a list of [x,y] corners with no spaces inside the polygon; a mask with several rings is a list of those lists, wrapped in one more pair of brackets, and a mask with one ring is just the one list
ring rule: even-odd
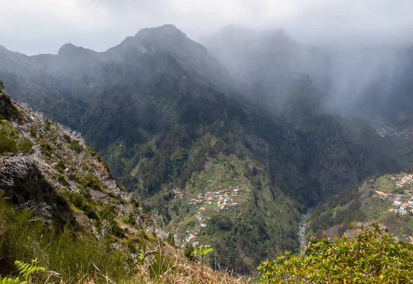
{"label": "bright yellow-green leafy bush in the bottom right foreground", "polygon": [[262,283],[412,283],[413,245],[374,226],[354,239],[313,237],[305,254],[286,252],[258,269]]}

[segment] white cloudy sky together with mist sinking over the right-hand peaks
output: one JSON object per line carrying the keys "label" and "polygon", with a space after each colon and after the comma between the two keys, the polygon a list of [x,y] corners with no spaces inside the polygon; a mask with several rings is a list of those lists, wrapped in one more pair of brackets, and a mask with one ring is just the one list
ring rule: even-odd
{"label": "white cloudy sky together with mist sinking over the right-hand peaks", "polygon": [[343,116],[370,118],[366,98],[385,103],[413,46],[410,0],[2,2],[0,45],[8,50],[56,54],[70,42],[102,52],[142,28],[171,23],[249,94],[262,92],[260,100],[279,109],[299,84],[285,74],[304,72]]}

